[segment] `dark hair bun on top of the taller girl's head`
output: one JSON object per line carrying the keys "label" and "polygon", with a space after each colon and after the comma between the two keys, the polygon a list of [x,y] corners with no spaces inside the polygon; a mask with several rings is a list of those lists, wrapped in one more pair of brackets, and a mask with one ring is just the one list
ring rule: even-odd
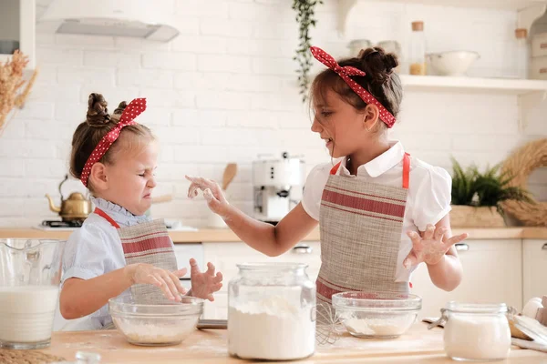
{"label": "dark hair bun on top of the taller girl's head", "polygon": [[393,73],[393,69],[398,66],[397,56],[386,53],[384,48],[379,46],[361,50],[358,57],[366,75],[374,83],[385,83]]}

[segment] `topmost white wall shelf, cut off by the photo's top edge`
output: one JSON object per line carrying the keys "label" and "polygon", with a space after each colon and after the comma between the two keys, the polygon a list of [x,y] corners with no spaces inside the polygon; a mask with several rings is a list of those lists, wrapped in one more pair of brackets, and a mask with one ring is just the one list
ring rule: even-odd
{"label": "topmost white wall shelf, cut off by the photo's top edge", "polygon": [[[347,15],[358,2],[377,0],[338,0],[338,32],[346,32]],[[384,2],[422,4],[437,6],[474,7],[492,10],[511,10],[518,12],[518,27],[530,32],[532,23],[547,9],[547,0],[383,0]]]}

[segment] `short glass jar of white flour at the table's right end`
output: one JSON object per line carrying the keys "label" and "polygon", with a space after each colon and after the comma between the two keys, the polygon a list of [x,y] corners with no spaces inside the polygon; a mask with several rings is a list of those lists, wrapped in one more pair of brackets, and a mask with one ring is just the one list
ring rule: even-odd
{"label": "short glass jar of white flour at the table's right end", "polygon": [[493,361],[511,351],[505,304],[449,302],[443,310],[444,348],[451,359]]}

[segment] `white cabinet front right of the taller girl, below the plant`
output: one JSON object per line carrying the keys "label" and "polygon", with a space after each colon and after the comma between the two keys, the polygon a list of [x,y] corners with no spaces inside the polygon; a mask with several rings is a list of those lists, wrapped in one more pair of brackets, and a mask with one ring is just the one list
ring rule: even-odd
{"label": "white cabinet front right of the taller girl, below the plant", "polygon": [[[428,268],[422,264],[411,278],[412,293],[423,300],[419,317],[438,317],[440,308],[449,300],[467,303],[503,302],[521,310],[521,247],[521,239],[466,240],[459,244],[457,249],[463,267],[463,279],[452,292],[435,287],[429,278]],[[543,262],[547,262],[547,251],[544,257]],[[543,272],[547,272],[547,268],[543,268]]]}

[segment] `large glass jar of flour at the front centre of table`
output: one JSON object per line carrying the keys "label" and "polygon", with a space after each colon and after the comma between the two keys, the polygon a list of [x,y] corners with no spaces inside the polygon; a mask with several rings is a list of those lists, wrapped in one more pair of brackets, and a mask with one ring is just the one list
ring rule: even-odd
{"label": "large glass jar of flour at the front centre of table", "polygon": [[315,352],[315,284],[306,264],[239,264],[228,286],[228,350],[241,359],[294,360]]}

